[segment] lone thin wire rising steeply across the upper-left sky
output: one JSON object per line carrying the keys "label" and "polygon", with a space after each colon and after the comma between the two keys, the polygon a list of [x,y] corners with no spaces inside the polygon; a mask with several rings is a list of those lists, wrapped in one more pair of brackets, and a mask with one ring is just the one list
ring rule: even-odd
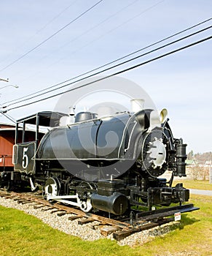
{"label": "lone thin wire rising steeply across the upper-left sky", "polygon": [[40,42],[38,45],[36,45],[34,48],[32,48],[31,50],[28,50],[27,53],[24,53],[22,56],[20,56],[19,58],[15,59],[15,61],[12,61],[10,64],[8,64],[6,67],[4,67],[3,69],[0,69],[0,72],[7,69],[7,67],[12,66],[12,64],[15,64],[17,61],[20,61],[20,59],[23,59],[23,57],[27,56],[29,53],[31,53],[32,51],[36,50],[37,48],[39,48],[41,45],[43,45],[45,42],[47,42],[48,40],[50,40],[52,37],[55,37],[56,34],[60,33],[60,31],[63,31],[63,29],[66,29],[69,25],[71,25],[71,23],[74,23],[74,21],[78,20],[79,18],[81,18],[83,15],[85,15],[87,12],[89,12],[90,10],[92,10],[94,7],[96,7],[98,4],[101,3],[100,0],[98,1],[96,4],[94,4],[92,7],[88,8],[85,12],[82,12],[79,16],[77,16],[76,18],[74,18],[74,20],[71,20],[68,24],[66,24],[65,26],[63,26],[61,29],[59,29],[58,31],[56,31],[54,34],[52,34],[50,37],[47,37],[47,39],[44,39],[44,41]]}

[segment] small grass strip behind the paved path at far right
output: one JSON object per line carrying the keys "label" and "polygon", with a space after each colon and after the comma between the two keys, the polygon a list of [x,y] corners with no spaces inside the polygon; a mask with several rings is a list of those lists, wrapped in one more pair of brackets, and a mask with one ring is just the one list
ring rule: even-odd
{"label": "small grass strip behind the paved path at far right", "polygon": [[178,180],[174,181],[173,185],[176,185],[177,183],[183,183],[184,187],[187,189],[203,189],[203,190],[212,190],[212,184],[209,184],[209,181],[192,181],[192,180]]}

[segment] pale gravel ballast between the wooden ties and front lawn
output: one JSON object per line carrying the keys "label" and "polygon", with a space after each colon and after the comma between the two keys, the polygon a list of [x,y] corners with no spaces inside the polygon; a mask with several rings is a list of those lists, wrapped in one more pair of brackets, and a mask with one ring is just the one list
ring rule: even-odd
{"label": "pale gravel ballast between the wooden ties and front lawn", "polygon": [[[39,219],[42,222],[46,223],[50,227],[58,229],[64,233],[67,233],[71,236],[78,236],[83,240],[87,241],[95,241],[101,238],[105,238],[105,236],[101,235],[101,230],[98,228],[100,222],[90,222],[85,225],[79,225],[79,219],[75,219],[73,221],[68,220],[68,217],[74,216],[74,214],[66,214],[62,217],[58,217],[58,213],[51,214],[50,211],[42,211],[41,208],[34,208],[31,204],[21,204],[17,203],[12,199],[6,199],[4,197],[0,197],[0,205],[7,208],[16,208],[20,211],[24,211],[25,214],[31,214]],[[161,225],[160,227],[154,227],[150,230],[144,230],[138,233],[134,233],[127,238],[122,239],[122,241],[118,241],[117,243],[121,246],[135,246],[142,245],[146,242],[152,241],[154,238],[158,236],[165,236],[165,234],[169,233],[173,227],[173,225],[180,225],[180,222],[170,222],[165,225]],[[113,236],[107,236],[107,238],[113,240]]]}

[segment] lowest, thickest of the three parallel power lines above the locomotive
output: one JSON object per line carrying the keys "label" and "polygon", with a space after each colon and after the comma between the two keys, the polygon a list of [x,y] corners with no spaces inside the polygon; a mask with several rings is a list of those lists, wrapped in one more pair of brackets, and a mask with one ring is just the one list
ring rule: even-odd
{"label": "lowest, thickest of the three parallel power lines above the locomotive", "polygon": [[169,55],[171,55],[171,54],[173,54],[173,53],[176,53],[176,52],[178,52],[178,51],[180,51],[180,50],[184,50],[184,49],[187,49],[187,48],[192,47],[192,46],[194,46],[194,45],[200,44],[201,42],[205,42],[205,41],[207,41],[207,40],[209,40],[209,39],[211,39],[211,38],[212,38],[212,36],[211,36],[211,37],[206,37],[206,38],[204,38],[204,39],[200,39],[200,40],[197,41],[197,42],[192,42],[192,43],[189,44],[189,45],[185,45],[184,47],[178,48],[178,49],[176,49],[176,50],[172,50],[172,51],[170,51],[170,52],[168,52],[168,53],[162,54],[162,55],[157,56],[157,57],[155,57],[155,58],[153,58],[153,59],[150,59],[150,60],[148,60],[148,61],[141,62],[140,64],[136,64],[136,65],[134,65],[134,66],[132,66],[132,67],[128,67],[127,69],[122,69],[121,71],[115,72],[115,73],[113,73],[113,74],[111,74],[111,75],[107,75],[107,76],[104,77],[104,78],[99,78],[99,79],[97,79],[97,80],[95,80],[95,81],[93,81],[93,82],[85,83],[85,84],[82,85],[82,86],[77,86],[77,87],[72,88],[72,89],[69,89],[69,90],[67,90],[67,91],[60,92],[60,93],[58,93],[58,94],[52,95],[52,96],[50,96],[50,97],[46,97],[46,98],[43,98],[43,99],[38,99],[38,100],[36,100],[36,101],[34,101],[34,102],[29,102],[29,103],[26,103],[26,104],[24,104],[24,105],[20,105],[20,106],[14,107],[14,108],[9,108],[8,110],[3,111],[3,113],[6,113],[6,112],[9,111],[9,110],[15,110],[15,109],[17,109],[17,108],[23,108],[23,107],[25,107],[25,106],[32,105],[32,104],[35,104],[35,103],[37,103],[37,102],[42,102],[42,101],[44,101],[44,100],[46,100],[46,99],[51,99],[51,98],[53,98],[53,97],[60,96],[61,94],[66,94],[66,93],[69,92],[69,91],[74,91],[74,90],[76,90],[76,89],[81,89],[81,88],[83,88],[83,87],[85,87],[85,86],[89,86],[89,85],[91,85],[91,84],[93,84],[93,83],[97,83],[97,82],[99,82],[99,81],[101,81],[101,80],[105,80],[105,79],[107,79],[107,78],[111,78],[111,77],[113,77],[113,76],[115,76],[115,75],[120,75],[120,74],[122,74],[123,72],[127,72],[127,71],[130,71],[130,70],[135,69],[135,68],[137,68],[137,67],[141,67],[141,66],[143,66],[143,65],[145,65],[145,64],[148,64],[148,63],[150,63],[150,62],[152,62],[152,61],[156,61],[156,60],[158,60],[158,59],[162,59],[162,58],[164,58],[165,56],[169,56]]}

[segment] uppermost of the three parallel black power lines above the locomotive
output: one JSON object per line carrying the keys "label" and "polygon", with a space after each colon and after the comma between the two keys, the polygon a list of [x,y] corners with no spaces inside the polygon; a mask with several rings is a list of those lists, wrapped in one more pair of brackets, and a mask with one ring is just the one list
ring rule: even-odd
{"label": "uppermost of the three parallel black power lines above the locomotive", "polygon": [[[146,46],[146,47],[144,47],[144,48],[140,48],[140,49],[134,51],[133,53],[129,53],[129,54],[125,55],[125,56],[122,56],[122,57],[119,58],[119,59],[115,59],[114,61],[110,61],[109,63],[103,64],[103,65],[100,66],[100,67],[97,67],[97,68],[95,68],[95,69],[91,69],[90,71],[84,72],[84,73],[82,73],[81,75],[77,75],[77,76],[75,76],[74,78],[70,78],[70,79],[65,80],[65,81],[63,81],[63,82],[61,82],[61,83],[57,83],[57,84],[55,84],[54,86],[50,86],[50,87],[48,87],[48,88],[46,88],[46,89],[42,89],[42,90],[40,90],[40,91],[36,91],[36,92],[34,92],[34,93],[32,93],[32,94],[28,94],[28,95],[26,95],[26,96],[24,96],[24,97],[20,97],[20,98],[17,98],[17,99],[12,99],[12,100],[10,100],[9,102],[4,102],[2,105],[6,105],[7,103],[10,103],[10,102],[14,102],[14,101],[15,101],[14,103],[9,104],[9,105],[7,105],[7,106],[4,107],[4,108],[7,108],[7,107],[9,107],[10,105],[15,105],[15,104],[20,103],[20,102],[23,102],[23,101],[25,101],[25,100],[33,99],[33,98],[35,98],[35,97],[39,97],[39,96],[42,95],[42,94],[39,94],[39,93],[41,93],[41,92],[43,92],[43,91],[47,91],[47,90],[52,89],[52,88],[54,88],[54,87],[56,87],[56,86],[60,86],[60,85],[62,85],[63,83],[67,83],[67,82],[69,82],[69,81],[71,81],[71,80],[74,80],[74,79],[76,79],[76,78],[80,78],[80,77],[82,77],[83,75],[90,74],[91,72],[95,72],[95,71],[98,70],[98,69],[102,69],[103,67],[109,66],[110,64],[114,64],[114,63],[117,62],[117,61],[121,61],[122,59],[126,59],[127,57],[132,56],[132,55],[134,55],[134,54],[136,54],[136,53],[138,53],[138,52],[141,52],[142,50],[146,50],[146,49],[148,49],[148,48],[151,48],[152,46],[157,45],[157,44],[159,44],[160,42],[164,42],[165,40],[168,40],[168,39],[170,39],[170,38],[172,38],[172,37],[176,37],[177,35],[182,34],[182,33],[184,33],[185,31],[189,31],[190,29],[194,29],[194,28],[197,27],[197,26],[203,25],[203,23],[207,23],[207,22],[210,21],[211,19],[212,19],[212,18],[209,18],[209,19],[207,19],[207,20],[203,20],[202,22],[197,23],[197,24],[195,24],[194,26],[190,26],[190,27],[187,28],[187,29],[184,29],[184,30],[182,30],[182,31],[179,31],[179,32],[177,32],[177,33],[175,33],[175,34],[173,34],[173,35],[171,35],[171,36],[169,36],[169,37],[165,37],[164,39],[161,39],[161,40],[159,40],[159,41],[157,41],[157,42],[154,42],[154,43],[152,43],[151,45],[148,45],[148,46]],[[115,67],[117,67],[117,66],[115,66]],[[113,67],[111,67],[111,68],[113,68]],[[111,68],[110,68],[110,69],[111,69]],[[104,69],[104,70],[101,71],[101,72],[104,72],[104,71],[106,71],[106,70],[108,70],[108,69]],[[88,77],[86,77],[86,78],[90,78],[91,76],[98,75],[98,74],[101,73],[101,72],[97,72],[97,73],[95,73],[95,74],[93,74],[93,75],[90,75],[90,76],[88,76]],[[84,80],[84,79],[86,79],[86,78],[82,78],[82,79],[80,79],[80,80]],[[79,82],[80,80],[76,80],[74,83]],[[70,84],[68,84],[68,85],[70,85]],[[49,92],[52,92],[52,91],[56,91],[56,90],[61,89],[61,88],[63,88],[63,87],[65,87],[65,86],[60,86],[60,87],[57,88],[57,89],[54,89],[54,90],[51,90],[51,91],[47,91],[45,94],[47,94],[47,93],[49,93]],[[34,97],[31,97],[31,96],[33,96],[33,95],[35,95],[35,94],[39,94],[39,95],[36,95],[36,96],[34,96]],[[31,97],[31,98],[25,99],[26,97]],[[18,101],[19,99],[23,99],[23,100]]]}

